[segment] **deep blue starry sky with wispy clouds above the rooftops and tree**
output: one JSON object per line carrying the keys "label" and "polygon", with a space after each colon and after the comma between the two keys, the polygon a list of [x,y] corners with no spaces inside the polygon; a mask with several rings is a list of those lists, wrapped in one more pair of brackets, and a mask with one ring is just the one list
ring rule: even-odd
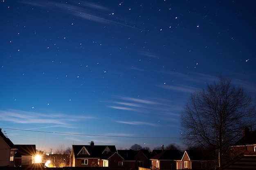
{"label": "deep blue starry sky with wispy clouds above the rooftops and tree", "polygon": [[47,152],[90,141],[117,149],[182,144],[184,104],[219,74],[255,98],[255,7],[1,0],[0,127],[14,144]]}

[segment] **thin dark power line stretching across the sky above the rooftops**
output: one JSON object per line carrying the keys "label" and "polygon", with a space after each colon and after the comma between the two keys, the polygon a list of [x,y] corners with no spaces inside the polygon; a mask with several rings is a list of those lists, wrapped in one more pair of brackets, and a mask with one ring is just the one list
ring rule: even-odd
{"label": "thin dark power line stretching across the sky above the rooftops", "polygon": [[40,130],[25,130],[25,129],[14,129],[14,128],[2,128],[9,130],[21,130],[21,131],[29,131],[29,132],[40,132],[40,133],[55,133],[62,135],[80,135],[80,136],[98,136],[98,137],[126,137],[126,138],[148,138],[148,139],[177,139],[178,137],[131,137],[131,136],[112,136],[112,135],[89,135],[89,134],[77,134],[77,133],[64,133],[64,132],[47,132]]}

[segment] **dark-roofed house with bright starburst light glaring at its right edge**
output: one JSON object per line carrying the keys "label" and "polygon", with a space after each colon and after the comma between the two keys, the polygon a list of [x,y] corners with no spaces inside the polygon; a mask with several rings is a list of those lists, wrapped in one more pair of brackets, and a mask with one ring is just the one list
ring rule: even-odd
{"label": "dark-roofed house with bright starburst light glaring at its right edge", "polygon": [[15,152],[15,166],[29,166],[35,163],[36,145],[14,145],[18,150]]}

